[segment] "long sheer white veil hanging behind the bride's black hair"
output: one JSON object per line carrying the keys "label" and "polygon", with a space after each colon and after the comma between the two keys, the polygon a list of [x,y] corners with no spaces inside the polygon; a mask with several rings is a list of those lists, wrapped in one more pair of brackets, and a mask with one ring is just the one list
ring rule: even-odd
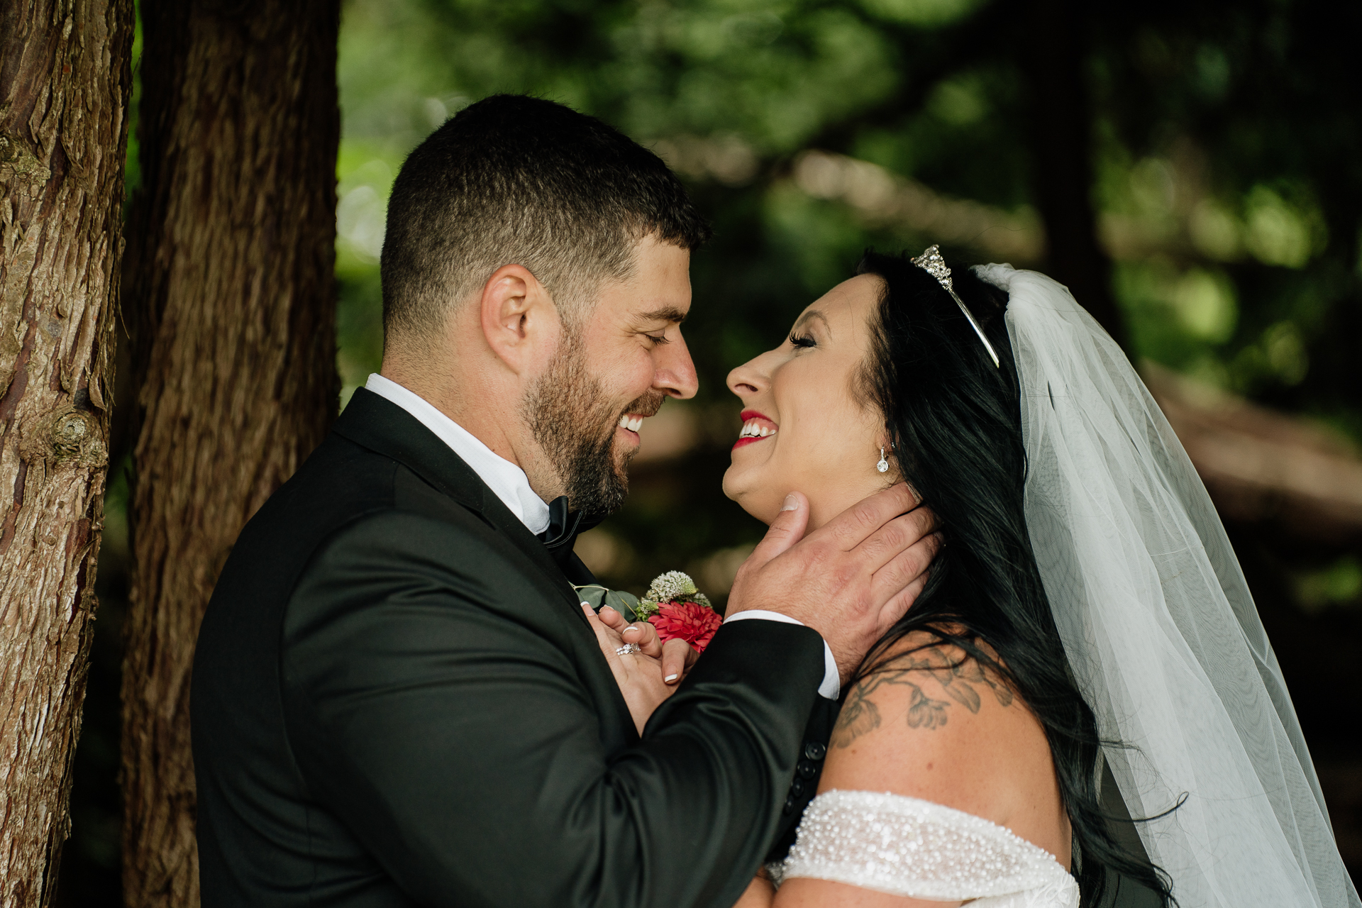
{"label": "long sheer white veil hanging behind the bride's black hair", "polygon": [[[1182,908],[1358,907],[1224,527],[1111,338],[1034,271],[1011,295],[1026,517],[1073,675]],[[1184,799],[1184,795],[1185,799]]]}

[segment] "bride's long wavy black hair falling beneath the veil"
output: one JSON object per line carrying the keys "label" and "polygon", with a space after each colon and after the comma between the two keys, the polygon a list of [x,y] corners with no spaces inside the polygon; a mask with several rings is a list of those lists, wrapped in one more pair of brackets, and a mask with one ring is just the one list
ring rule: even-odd
{"label": "bride's long wavy black hair falling beneath the veil", "polygon": [[1165,907],[1175,904],[1167,875],[1118,844],[1099,806],[1100,745],[1114,742],[1099,739],[1069,674],[1031,553],[1007,293],[972,270],[952,268],[956,293],[1001,359],[996,368],[951,294],[907,255],[868,252],[857,274],[883,280],[857,391],[883,411],[899,474],[937,513],[947,538],[926,588],[866,656],[858,679],[891,667],[917,630],[996,671],[1045,727],[1084,908],[1102,904],[1109,869],[1154,890]]}

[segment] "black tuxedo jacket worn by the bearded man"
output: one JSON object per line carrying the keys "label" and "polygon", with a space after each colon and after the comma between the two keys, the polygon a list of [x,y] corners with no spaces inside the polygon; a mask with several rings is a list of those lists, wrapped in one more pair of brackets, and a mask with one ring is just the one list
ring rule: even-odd
{"label": "black tuxedo jacket worn by the bearded man", "polygon": [[357,391],[199,634],[203,905],[730,908],[812,787],[821,677],[813,630],[726,625],[640,739],[538,539]]}

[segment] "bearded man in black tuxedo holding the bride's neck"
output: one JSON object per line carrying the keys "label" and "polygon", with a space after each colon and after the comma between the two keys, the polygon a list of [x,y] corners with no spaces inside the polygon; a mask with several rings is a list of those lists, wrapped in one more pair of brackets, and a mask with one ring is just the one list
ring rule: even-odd
{"label": "bearded man in black tuxedo holding the bride's neck", "polygon": [[572,539],[696,391],[706,236],[656,157],[545,101],[488,98],[407,158],[383,373],[241,532],[199,636],[207,908],[737,900],[821,757],[810,712],[934,542],[903,487],[806,538],[791,496],[636,732]]}

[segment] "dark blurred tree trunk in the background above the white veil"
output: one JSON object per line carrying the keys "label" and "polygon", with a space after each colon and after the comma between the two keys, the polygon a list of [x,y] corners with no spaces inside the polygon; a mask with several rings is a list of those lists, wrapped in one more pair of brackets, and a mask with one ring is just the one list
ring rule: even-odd
{"label": "dark blurred tree trunk in the background above the white veil", "polygon": [[1050,276],[1125,346],[1125,320],[1111,294],[1111,260],[1098,244],[1092,206],[1088,15],[1083,0],[1032,0],[1027,7],[1022,63],[1031,95],[1031,167]]}

